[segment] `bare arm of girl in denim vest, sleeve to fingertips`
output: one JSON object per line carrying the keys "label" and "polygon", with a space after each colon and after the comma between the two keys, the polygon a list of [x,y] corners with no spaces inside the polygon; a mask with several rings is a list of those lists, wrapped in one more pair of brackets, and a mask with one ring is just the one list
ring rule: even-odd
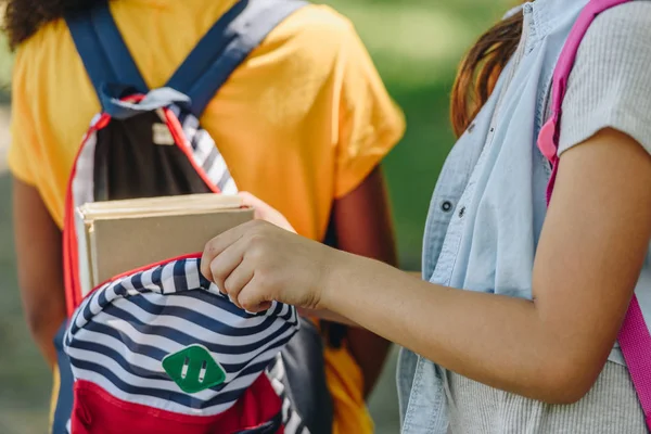
{"label": "bare arm of girl in denim vest, sleeve to fingertips", "polygon": [[561,162],[533,301],[430,284],[260,224],[208,243],[202,271],[248,310],[271,299],[330,309],[475,381],[573,403],[601,372],[642,267],[651,156],[602,130]]}

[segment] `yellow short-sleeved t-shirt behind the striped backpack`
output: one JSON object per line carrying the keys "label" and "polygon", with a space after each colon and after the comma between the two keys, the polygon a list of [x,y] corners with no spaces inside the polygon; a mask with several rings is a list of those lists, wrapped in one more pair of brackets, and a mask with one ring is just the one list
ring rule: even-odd
{"label": "yellow short-sleeved t-shirt behind the striped backpack", "polygon": [[[117,0],[111,10],[150,88],[163,86],[233,0]],[[15,177],[35,186],[61,227],[80,139],[100,111],[63,21],[20,47],[13,75]],[[350,23],[308,5],[281,23],[232,74],[201,118],[240,190],[324,237],[331,205],[400,139],[405,123]],[[372,431],[362,378],[347,350],[326,354],[334,433]]]}

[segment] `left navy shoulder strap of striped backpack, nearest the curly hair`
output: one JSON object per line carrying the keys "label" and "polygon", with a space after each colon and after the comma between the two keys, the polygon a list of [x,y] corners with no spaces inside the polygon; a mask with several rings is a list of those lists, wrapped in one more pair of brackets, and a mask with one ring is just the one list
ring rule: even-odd
{"label": "left navy shoulder strap of striped backpack, nearest the curly hair", "polygon": [[144,79],[115,25],[107,2],[71,12],[65,21],[100,101],[103,101],[102,89],[110,85],[146,93]]}

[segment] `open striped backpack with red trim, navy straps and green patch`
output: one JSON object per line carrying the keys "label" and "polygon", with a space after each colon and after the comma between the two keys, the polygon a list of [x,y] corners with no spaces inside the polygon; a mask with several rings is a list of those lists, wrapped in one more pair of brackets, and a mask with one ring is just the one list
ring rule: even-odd
{"label": "open striped backpack with red trim, navy straps and green patch", "polygon": [[125,270],[85,293],[74,213],[97,201],[235,193],[197,119],[248,53],[304,4],[235,2],[153,90],[107,1],[65,17],[102,112],[79,148],[65,203],[68,320],[55,339],[54,434],[331,432],[321,335],[294,307],[239,309],[201,275],[200,254]]}

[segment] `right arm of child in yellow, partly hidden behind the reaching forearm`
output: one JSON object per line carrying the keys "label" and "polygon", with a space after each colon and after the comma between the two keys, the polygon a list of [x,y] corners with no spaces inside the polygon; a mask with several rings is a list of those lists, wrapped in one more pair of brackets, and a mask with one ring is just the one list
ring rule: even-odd
{"label": "right arm of child in yellow, partly hidden behind the reaching forearm", "polygon": [[[397,266],[388,209],[384,177],[380,167],[376,167],[358,188],[334,203],[332,218],[337,247]],[[343,285],[337,291],[345,293],[347,289]],[[359,327],[347,328],[346,340],[363,374],[366,397],[382,373],[391,343]]]}

